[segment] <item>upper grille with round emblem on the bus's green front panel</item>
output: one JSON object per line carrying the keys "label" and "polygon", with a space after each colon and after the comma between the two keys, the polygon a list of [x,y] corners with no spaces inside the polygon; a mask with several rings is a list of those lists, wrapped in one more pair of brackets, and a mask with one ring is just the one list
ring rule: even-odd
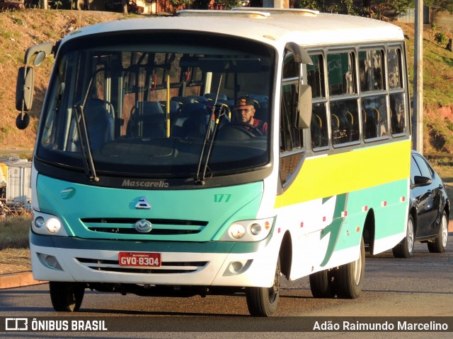
{"label": "upper grille with round emblem on the bus's green front panel", "polygon": [[132,218],[85,218],[81,219],[87,230],[92,232],[115,233],[115,234],[140,234],[140,235],[180,235],[197,234],[202,232],[207,225],[206,221],[200,220],[176,220],[176,219],[147,219],[151,222],[150,232],[142,233],[135,230],[135,222]]}

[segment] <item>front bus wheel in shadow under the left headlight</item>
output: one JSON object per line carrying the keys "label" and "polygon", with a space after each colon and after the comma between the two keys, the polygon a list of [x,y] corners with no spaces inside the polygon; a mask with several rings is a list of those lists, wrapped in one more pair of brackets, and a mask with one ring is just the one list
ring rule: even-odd
{"label": "front bus wheel in shadow under the left headlight", "polygon": [[50,281],[50,299],[55,311],[75,312],[79,311],[85,294],[84,283],[63,283]]}

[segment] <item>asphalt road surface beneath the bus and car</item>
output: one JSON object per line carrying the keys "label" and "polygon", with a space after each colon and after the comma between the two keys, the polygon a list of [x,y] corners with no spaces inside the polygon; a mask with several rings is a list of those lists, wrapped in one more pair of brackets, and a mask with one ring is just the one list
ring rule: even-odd
{"label": "asphalt road surface beneath the bus and car", "polygon": [[[351,327],[343,328],[343,321],[352,325],[357,321],[379,323],[379,326],[385,323],[398,326],[406,321],[406,324],[422,322],[428,326],[434,322],[440,326],[440,331],[435,333],[423,329],[406,331],[411,333],[411,338],[452,338],[453,234],[450,237],[445,254],[430,254],[425,244],[417,243],[410,259],[394,258],[391,252],[367,257],[363,292],[358,299],[315,299],[308,278],[290,283],[285,280],[279,309],[270,319],[248,316],[243,295],[161,298],[87,291],[81,311],[64,314],[53,311],[47,284],[0,290],[0,331],[5,329],[4,317],[26,318],[29,326],[33,319],[47,322],[60,319],[67,321],[68,327],[73,320],[89,319],[104,321],[108,329],[82,333],[6,331],[0,335],[2,338],[249,339],[275,338],[275,332],[279,332],[279,338],[314,335],[316,338],[401,338],[405,333],[351,331]],[[312,331],[314,326],[323,324],[338,324],[340,331]],[[442,326],[447,326],[447,331]]]}

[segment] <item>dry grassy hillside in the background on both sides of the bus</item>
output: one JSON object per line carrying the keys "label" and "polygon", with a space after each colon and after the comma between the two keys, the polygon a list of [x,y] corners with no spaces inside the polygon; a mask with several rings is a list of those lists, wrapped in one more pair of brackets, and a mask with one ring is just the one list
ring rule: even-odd
{"label": "dry grassy hillside in the background on both sides of the bus", "polygon": [[[21,12],[0,13],[0,149],[31,150],[38,127],[40,107],[50,75],[52,58],[35,72],[35,101],[30,112],[30,127],[16,129],[18,112],[15,109],[16,73],[23,54],[31,44],[56,41],[69,32],[94,23],[123,18],[120,13],[97,11],[59,11],[27,9]],[[152,20],[152,18],[150,18]],[[398,23],[397,23],[398,24]],[[413,25],[399,23],[407,36],[409,75],[413,78]],[[436,32],[441,32],[437,30]],[[435,42],[435,33],[425,30],[424,46],[424,103],[425,153],[453,152],[453,54]],[[0,154],[1,155],[1,154]]]}

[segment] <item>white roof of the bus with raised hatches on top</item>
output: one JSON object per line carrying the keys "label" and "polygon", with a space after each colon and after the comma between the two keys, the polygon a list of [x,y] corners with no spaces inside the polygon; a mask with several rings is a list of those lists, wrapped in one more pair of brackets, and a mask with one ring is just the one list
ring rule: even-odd
{"label": "white roof of the bus with raised hatches on top", "polygon": [[275,46],[296,42],[302,46],[401,41],[403,31],[384,21],[277,8],[234,8],[232,11],[184,10],[176,17],[118,20],[81,28],[71,37],[133,30],[178,30],[223,34]]}

